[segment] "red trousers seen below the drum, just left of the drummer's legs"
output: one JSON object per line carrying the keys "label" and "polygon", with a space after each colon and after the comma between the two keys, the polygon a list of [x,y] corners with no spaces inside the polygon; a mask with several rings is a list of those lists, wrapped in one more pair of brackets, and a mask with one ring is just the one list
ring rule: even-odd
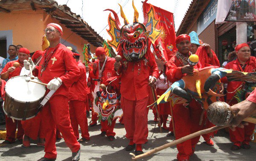
{"label": "red trousers seen below the drum, just left of the drummer's legs", "polygon": [[26,121],[21,121],[22,127],[24,129],[24,134],[33,140],[39,138],[44,138],[44,132],[42,130],[41,124],[41,113],[39,112],[34,118]]}

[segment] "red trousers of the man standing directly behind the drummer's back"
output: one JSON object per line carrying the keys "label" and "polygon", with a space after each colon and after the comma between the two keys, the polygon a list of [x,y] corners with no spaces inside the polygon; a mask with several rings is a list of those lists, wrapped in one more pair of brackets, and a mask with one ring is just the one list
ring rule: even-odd
{"label": "red trousers of the man standing directly behind the drummer's back", "polygon": [[88,100],[78,101],[71,100],[69,102],[70,105],[70,120],[71,125],[74,130],[75,136],[79,139],[78,125],[81,129],[81,137],[90,140],[90,135],[88,132],[88,123],[86,117],[86,103],[88,104]]}

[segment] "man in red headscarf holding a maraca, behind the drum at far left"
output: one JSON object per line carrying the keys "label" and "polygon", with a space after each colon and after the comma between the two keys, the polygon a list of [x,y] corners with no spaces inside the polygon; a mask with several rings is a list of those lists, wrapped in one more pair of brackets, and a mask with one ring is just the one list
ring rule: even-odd
{"label": "man in red headscarf holding a maraca, behind the drum at far left", "polygon": [[[20,71],[23,68],[23,61],[29,58],[29,53],[30,52],[28,49],[20,48],[20,51],[18,52],[18,60],[10,61],[6,64],[1,73],[1,79],[6,80],[20,75]],[[20,66],[14,67],[13,64],[16,62],[19,63]],[[13,122],[12,118],[8,118],[6,116],[6,140],[3,141],[2,144],[12,144],[13,142],[15,142],[15,133],[17,125],[17,139],[20,141],[20,143],[22,143],[24,131],[21,125],[21,121],[15,120]]]}

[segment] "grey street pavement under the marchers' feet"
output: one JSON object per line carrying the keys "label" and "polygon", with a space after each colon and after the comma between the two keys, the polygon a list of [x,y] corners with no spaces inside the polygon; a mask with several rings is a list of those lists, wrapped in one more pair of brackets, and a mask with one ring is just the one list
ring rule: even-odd
{"label": "grey street pavement under the marchers' feet", "polygon": [[[143,144],[143,151],[147,152],[159,147],[163,144],[175,140],[175,137],[166,137],[167,131],[156,127],[154,130],[154,115],[150,110],[148,113],[148,143]],[[88,122],[90,118],[88,118]],[[108,141],[108,138],[100,136],[100,125],[89,127],[90,141],[81,144],[81,161],[129,161],[131,156],[125,151],[125,147],[129,141],[125,138],[124,125],[116,121],[114,132],[116,139]],[[169,122],[168,122],[169,123]],[[4,129],[0,126],[0,129]],[[154,135],[151,137],[154,131]],[[79,131],[81,134],[81,131]],[[250,150],[232,151],[230,147],[232,143],[229,140],[228,133],[221,129],[212,138],[214,147],[204,144],[204,139],[201,137],[195,149],[195,154],[191,156],[191,161],[256,161],[256,143],[251,142]],[[0,141],[2,143],[3,141]],[[14,144],[0,144],[0,161],[36,161],[44,156],[44,148],[36,147],[36,142],[32,141],[32,146],[29,148],[22,147],[16,141]],[[71,161],[71,151],[66,146],[64,139],[56,142],[57,161]],[[134,151],[131,151],[134,153]],[[145,161],[177,161],[177,148],[169,147],[165,150],[155,153],[154,155],[143,158]]]}

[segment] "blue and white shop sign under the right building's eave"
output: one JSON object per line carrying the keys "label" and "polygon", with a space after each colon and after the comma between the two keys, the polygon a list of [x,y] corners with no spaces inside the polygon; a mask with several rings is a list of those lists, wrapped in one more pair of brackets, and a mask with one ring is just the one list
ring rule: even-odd
{"label": "blue and white shop sign under the right building's eave", "polygon": [[211,0],[197,20],[197,34],[201,34],[204,29],[215,20],[217,14],[218,0]]}

